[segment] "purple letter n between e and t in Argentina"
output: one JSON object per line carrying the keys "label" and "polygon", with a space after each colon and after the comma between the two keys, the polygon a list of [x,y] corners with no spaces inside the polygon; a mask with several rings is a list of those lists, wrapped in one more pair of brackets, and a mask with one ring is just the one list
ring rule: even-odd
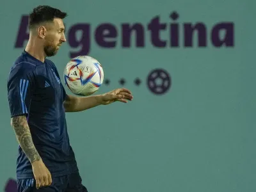
{"label": "purple letter n between e and t in Argentina", "polygon": [[136,47],[144,47],[145,39],[144,39],[144,27],[142,24],[137,23],[134,25],[130,24],[122,24],[122,45],[123,47],[131,47],[131,33],[132,31],[136,31]]}

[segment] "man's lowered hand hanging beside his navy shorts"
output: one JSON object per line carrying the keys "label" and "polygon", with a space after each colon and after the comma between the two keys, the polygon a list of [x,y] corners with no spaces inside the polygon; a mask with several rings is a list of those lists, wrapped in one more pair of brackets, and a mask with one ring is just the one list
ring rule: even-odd
{"label": "man's lowered hand hanging beside his navy shorts", "polygon": [[52,177],[51,173],[43,163],[42,159],[34,161],[32,164],[32,170],[36,180],[36,189],[51,186]]}

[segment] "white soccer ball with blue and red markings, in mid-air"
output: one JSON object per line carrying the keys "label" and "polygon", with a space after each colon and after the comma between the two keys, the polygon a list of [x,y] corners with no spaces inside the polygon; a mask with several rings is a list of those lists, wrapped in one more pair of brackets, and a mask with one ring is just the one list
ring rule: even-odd
{"label": "white soccer ball with blue and red markings, in mid-air", "polygon": [[75,95],[87,96],[99,90],[104,72],[99,61],[90,56],[77,56],[70,60],[63,72],[68,89]]}

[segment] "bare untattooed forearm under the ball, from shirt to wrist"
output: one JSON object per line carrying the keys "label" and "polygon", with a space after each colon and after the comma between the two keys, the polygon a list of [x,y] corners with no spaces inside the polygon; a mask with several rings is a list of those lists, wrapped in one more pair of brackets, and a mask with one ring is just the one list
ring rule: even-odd
{"label": "bare untattooed forearm under the ball, from shirt to wrist", "polygon": [[66,112],[84,111],[86,109],[94,108],[101,104],[101,95],[93,95],[89,97],[76,97],[67,95],[64,102]]}

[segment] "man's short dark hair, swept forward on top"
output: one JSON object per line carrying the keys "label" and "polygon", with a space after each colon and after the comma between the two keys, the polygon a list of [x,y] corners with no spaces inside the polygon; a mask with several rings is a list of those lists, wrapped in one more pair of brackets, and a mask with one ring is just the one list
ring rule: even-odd
{"label": "man's short dark hair, swept forward on top", "polygon": [[47,5],[40,5],[29,14],[29,29],[42,22],[53,21],[54,18],[64,19],[67,13]]}

